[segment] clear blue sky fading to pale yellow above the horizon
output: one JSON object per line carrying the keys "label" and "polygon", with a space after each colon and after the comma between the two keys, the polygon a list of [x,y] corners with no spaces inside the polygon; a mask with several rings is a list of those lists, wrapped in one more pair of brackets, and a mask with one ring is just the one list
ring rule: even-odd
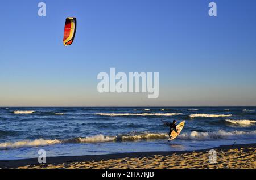
{"label": "clear blue sky fading to pale yellow above the horizon", "polygon": [[[256,1],[209,2],[1,1],[0,106],[256,106]],[[110,67],[159,72],[159,98],[98,93]]]}

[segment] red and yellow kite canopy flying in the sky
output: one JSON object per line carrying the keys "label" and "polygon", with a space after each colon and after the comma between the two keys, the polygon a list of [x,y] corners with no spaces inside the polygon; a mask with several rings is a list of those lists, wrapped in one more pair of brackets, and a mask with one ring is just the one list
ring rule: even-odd
{"label": "red and yellow kite canopy flying in the sky", "polygon": [[76,18],[67,18],[65,22],[64,38],[63,38],[64,46],[68,46],[72,44],[75,38],[75,34],[76,34]]}

